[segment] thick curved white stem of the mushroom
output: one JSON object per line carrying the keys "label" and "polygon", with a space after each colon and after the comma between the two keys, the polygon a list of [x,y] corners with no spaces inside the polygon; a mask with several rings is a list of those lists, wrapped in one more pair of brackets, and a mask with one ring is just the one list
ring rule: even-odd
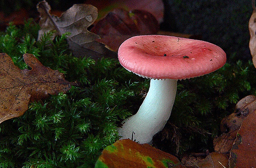
{"label": "thick curved white stem of the mushroom", "polygon": [[154,134],[166,125],[172,111],[177,80],[151,79],[148,94],[137,114],[125,119],[118,129],[121,139],[150,143]]}

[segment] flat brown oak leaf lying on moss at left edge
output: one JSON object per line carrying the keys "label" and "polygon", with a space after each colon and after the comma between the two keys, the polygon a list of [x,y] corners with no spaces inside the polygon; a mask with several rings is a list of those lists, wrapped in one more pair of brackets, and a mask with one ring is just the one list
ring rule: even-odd
{"label": "flat brown oak leaf lying on moss at left edge", "polygon": [[66,92],[75,85],[64,80],[64,74],[42,65],[34,55],[24,54],[23,59],[32,70],[21,70],[9,55],[0,53],[0,123],[23,115],[29,102]]}

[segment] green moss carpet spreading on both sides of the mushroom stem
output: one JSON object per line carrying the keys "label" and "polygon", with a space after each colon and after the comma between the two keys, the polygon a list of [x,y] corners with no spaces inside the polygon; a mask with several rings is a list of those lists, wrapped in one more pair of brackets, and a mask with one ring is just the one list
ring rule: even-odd
{"label": "green moss carpet spreading on both sides of the mushroom stem", "polygon": [[[51,40],[49,32],[38,42],[38,29],[32,20],[20,28],[11,24],[0,32],[0,52],[9,54],[21,69],[29,68],[22,55],[34,54],[79,86],[30,103],[23,116],[0,124],[0,167],[93,167],[102,149],[118,140],[120,122],[137,112],[149,80],[129,73],[117,59],[73,57],[67,49],[68,34]],[[238,61],[203,77],[178,81],[165,127],[169,138],[160,133],[154,145],[180,157],[188,150],[212,150],[220,120],[239,99],[256,94],[255,78],[253,64]]]}

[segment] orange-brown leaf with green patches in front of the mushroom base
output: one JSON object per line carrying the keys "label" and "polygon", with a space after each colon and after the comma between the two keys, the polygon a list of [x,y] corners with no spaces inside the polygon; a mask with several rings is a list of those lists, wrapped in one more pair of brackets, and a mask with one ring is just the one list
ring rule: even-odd
{"label": "orange-brown leaf with green patches in front of the mushroom base", "polygon": [[183,168],[171,154],[148,144],[132,140],[119,140],[107,146],[96,162],[95,168]]}

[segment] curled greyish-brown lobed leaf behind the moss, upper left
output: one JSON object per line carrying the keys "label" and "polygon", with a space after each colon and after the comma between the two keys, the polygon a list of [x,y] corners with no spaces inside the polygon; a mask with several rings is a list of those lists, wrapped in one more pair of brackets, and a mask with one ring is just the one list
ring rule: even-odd
{"label": "curled greyish-brown lobed leaf behind the moss, upper left", "polygon": [[108,50],[104,44],[96,41],[96,39],[100,39],[99,35],[87,30],[97,18],[96,7],[88,4],[75,4],[61,17],[49,13],[51,7],[45,0],[38,3],[37,8],[41,15],[38,40],[48,31],[55,30],[54,37],[70,32],[71,35],[67,38],[67,42],[74,56],[94,59],[102,56],[117,57],[115,52]]}

